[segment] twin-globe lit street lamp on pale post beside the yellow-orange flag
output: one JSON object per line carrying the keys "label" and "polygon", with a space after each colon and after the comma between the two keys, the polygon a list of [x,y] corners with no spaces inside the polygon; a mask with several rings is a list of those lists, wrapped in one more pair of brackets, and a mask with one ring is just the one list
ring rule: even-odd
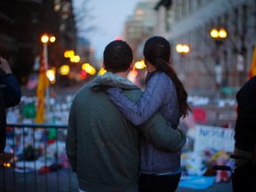
{"label": "twin-globe lit street lamp on pale post beside the yellow-orange flag", "polygon": [[[41,42],[44,45],[44,72],[45,76],[47,76],[47,70],[48,70],[48,48],[47,44],[48,42],[55,42],[56,38],[55,36],[48,36],[47,34],[44,34],[41,36]],[[49,85],[45,87],[45,104],[46,104],[46,114],[49,116],[50,111],[50,92],[49,92]],[[49,121],[49,118],[46,118],[46,121]]]}

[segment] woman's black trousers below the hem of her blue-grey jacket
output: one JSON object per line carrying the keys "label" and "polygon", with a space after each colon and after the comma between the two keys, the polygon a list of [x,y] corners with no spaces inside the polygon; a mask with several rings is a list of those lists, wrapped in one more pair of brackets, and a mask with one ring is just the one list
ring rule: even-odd
{"label": "woman's black trousers below the hem of her blue-grey jacket", "polygon": [[181,172],[174,175],[140,174],[140,192],[172,192],[178,188]]}

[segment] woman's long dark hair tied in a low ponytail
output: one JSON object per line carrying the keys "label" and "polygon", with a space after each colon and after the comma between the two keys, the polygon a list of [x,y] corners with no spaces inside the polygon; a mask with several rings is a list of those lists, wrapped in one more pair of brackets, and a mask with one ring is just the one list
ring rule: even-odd
{"label": "woman's long dark hair tied in a low ponytail", "polygon": [[183,117],[188,116],[188,111],[191,111],[187,102],[188,93],[170,64],[171,46],[169,42],[162,36],[150,37],[144,45],[143,54],[145,60],[156,66],[156,70],[163,71],[170,76],[177,92],[180,114]]}

